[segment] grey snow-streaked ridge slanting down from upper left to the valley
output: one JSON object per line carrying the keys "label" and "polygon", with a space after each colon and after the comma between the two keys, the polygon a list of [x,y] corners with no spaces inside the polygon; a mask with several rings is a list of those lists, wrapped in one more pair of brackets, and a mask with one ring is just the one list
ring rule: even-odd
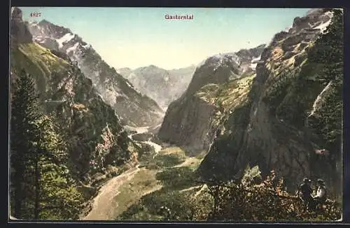
{"label": "grey snow-streaked ridge slanting down from upper left to the valley", "polygon": [[36,43],[55,53],[64,53],[76,62],[83,74],[92,80],[103,100],[116,110],[123,124],[153,126],[160,123],[163,111],[158,104],[137,92],[80,36],[46,20],[28,26]]}

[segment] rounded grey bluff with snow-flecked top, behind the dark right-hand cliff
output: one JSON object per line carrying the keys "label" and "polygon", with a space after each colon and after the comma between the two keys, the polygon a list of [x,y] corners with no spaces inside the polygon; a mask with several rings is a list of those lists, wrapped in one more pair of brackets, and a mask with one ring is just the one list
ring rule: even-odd
{"label": "rounded grey bluff with snow-flecked top, behind the dark right-hand cliff", "polygon": [[207,150],[217,128],[217,116],[224,110],[218,102],[206,98],[205,93],[210,90],[215,96],[221,89],[214,85],[253,75],[253,62],[260,57],[263,47],[265,45],[238,53],[218,54],[201,62],[185,93],[169,105],[159,138],[186,147],[191,154]]}

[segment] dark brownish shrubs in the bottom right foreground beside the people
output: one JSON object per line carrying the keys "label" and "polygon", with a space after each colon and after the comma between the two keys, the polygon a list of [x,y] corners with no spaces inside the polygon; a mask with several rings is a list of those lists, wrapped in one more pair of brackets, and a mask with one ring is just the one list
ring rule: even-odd
{"label": "dark brownish shrubs in the bottom right foreground beside the people", "polygon": [[209,220],[229,221],[334,221],[341,217],[341,207],[328,199],[322,210],[307,211],[302,201],[286,192],[283,179],[276,181],[274,171],[254,185],[217,183],[209,185],[214,207]]}

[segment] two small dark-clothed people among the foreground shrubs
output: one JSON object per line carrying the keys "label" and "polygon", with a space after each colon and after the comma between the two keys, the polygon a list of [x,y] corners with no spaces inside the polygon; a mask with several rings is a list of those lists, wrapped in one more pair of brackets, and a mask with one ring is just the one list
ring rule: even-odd
{"label": "two small dark-clothed people among the foreground shrubs", "polygon": [[304,206],[307,208],[307,210],[316,210],[317,207],[322,203],[325,203],[325,200],[327,199],[327,189],[325,188],[324,180],[318,179],[316,181],[316,186],[316,195],[312,196],[314,191],[311,187],[311,180],[304,177],[303,183],[297,190],[297,194],[304,202]]}

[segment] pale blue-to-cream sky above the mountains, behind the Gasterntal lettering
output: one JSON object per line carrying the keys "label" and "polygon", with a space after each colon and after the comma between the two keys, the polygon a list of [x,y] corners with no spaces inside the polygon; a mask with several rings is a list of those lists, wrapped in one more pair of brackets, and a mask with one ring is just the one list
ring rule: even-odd
{"label": "pale blue-to-cream sky above the mountains, behind the Gasterntal lettering", "polygon": [[[20,7],[23,19],[48,20],[78,34],[111,67],[197,65],[217,53],[269,43],[308,8],[55,8]],[[165,15],[194,15],[165,20]]]}

